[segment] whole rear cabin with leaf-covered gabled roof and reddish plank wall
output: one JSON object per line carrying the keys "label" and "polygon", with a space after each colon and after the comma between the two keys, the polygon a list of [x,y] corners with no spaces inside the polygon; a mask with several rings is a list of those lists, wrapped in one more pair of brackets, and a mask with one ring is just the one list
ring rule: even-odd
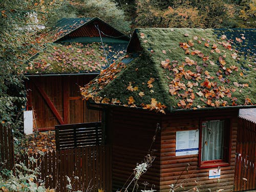
{"label": "whole rear cabin with leaf-covered gabled roof and reddish plank wall", "polygon": [[62,18],[49,36],[25,66],[26,110],[33,111],[34,129],[100,121],[101,112],[81,101],[79,86],[123,55],[130,38],[96,17]]}

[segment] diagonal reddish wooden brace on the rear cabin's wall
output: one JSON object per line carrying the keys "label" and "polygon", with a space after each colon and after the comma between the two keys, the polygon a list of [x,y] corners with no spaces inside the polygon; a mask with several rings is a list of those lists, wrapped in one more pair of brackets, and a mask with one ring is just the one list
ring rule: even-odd
{"label": "diagonal reddish wooden brace on the rear cabin's wall", "polygon": [[60,116],[58,110],[55,108],[53,102],[51,101],[50,97],[47,95],[44,89],[42,89],[41,83],[38,81],[33,80],[33,83],[35,84],[36,88],[38,89],[39,93],[42,95],[42,98],[45,99],[46,103],[48,104],[49,108],[52,110],[55,117],[58,119],[60,124],[65,124],[62,120],[62,117]]}

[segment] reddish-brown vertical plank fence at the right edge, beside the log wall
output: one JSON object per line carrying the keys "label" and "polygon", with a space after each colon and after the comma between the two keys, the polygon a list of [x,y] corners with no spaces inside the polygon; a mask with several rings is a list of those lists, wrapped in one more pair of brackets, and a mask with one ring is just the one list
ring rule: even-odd
{"label": "reddish-brown vertical plank fence at the right edge, beside the log wall", "polygon": [[234,191],[256,189],[256,126],[239,118]]}

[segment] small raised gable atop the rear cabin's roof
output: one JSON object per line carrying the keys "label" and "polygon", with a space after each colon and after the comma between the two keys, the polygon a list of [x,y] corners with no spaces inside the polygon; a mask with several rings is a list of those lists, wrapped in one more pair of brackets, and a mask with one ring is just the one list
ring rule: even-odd
{"label": "small raised gable atop the rear cabin's roof", "polygon": [[[93,25],[93,29],[83,29],[79,32],[79,30],[82,27],[87,27],[89,24]],[[116,30],[115,28],[111,27],[109,24],[106,24],[105,22],[103,22],[103,20],[101,20],[98,17],[84,17],[84,18],[62,18],[60,20],[58,20],[56,26],[54,26],[51,30],[51,38],[52,41],[61,41],[63,40],[63,37],[69,36],[69,34],[71,33],[77,33],[72,36],[73,37],[81,37],[81,36],[95,36],[93,33],[93,31],[96,32],[97,35],[99,35],[98,33],[98,29],[96,29],[96,27],[94,27],[94,25],[100,25],[100,30],[101,30],[101,35],[105,36],[104,30],[108,29],[111,31],[111,36],[114,37],[118,37],[124,40],[130,40],[129,37],[127,37],[125,34],[123,34],[122,32]],[[103,32],[102,29],[103,28]],[[94,32],[94,33],[95,33]]]}

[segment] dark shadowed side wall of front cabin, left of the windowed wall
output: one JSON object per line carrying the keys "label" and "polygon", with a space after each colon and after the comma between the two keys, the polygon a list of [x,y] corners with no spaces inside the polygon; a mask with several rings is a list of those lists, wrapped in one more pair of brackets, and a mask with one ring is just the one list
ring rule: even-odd
{"label": "dark shadowed side wall of front cabin, left of the windowed wall", "polygon": [[[107,120],[110,120],[106,128],[107,140],[113,145],[113,191],[121,190],[129,177],[133,175],[137,163],[141,163],[148,153],[148,148],[155,135],[156,125],[159,116],[155,113],[145,113],[137,110],[114,109],[109,113]],[[156,138],[153,148],[157,150],[157,158],[153,166],[143,175],[139,182],[140,187],[143,181],[155,184],[159,189],[160,176],[160,135]],[[151,185],[148,185],[151,187]]]}

